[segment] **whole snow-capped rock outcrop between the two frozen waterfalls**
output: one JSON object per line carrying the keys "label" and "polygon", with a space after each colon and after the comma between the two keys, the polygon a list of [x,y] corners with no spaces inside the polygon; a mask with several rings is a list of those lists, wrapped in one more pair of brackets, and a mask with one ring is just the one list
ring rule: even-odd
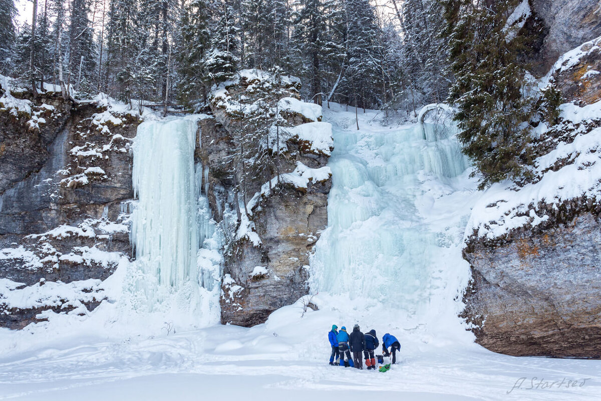
{"label": "whole snow-capped rock outcrop between the two frozen waterfalls", "polygon": [[[201,120],[202,146],[198,156],[209,167],[210,206],[227,237],[221,320],[242,326],[263,323],[272,311],[307,294],[309,256],[328,222],[331,174],[325,165],[331,147],[316,146],[307,139],[305,130],[311,136],[324,127],[327,131],[329,124],[312,122],[299,126],[320,120],[320,112],[315,112],[319,106],[304,103],[303,107],[312,112],[303,112],[278,103],[281,97],[289,99],[288,105],[302,103],[295,99],[300,85],[297,79],[281,79],[272,90],[278,96],[269,100],[273,107],[271,118],[273,112],[279,112],[285,120],[285,127],[280,128],[285,150],[273,152],[274,167],[263,182],[248,183],[246,197],[237,189],[236,182],[242,177],[236,155],[240,138],[245,135],[245,115],[241,110],[252,103],[252,85],[264,84],[261,81],[267,79],[273,77],[256,71],[242,72],[215,91],[215,118]],[[276,104],[281,107],[275,107]],[[331,132],[325,136],[331,140]],[[273,144],[275,141],[272,147]],[[243,208],[236,206],[236,199],[248,203],[248,218]]]}

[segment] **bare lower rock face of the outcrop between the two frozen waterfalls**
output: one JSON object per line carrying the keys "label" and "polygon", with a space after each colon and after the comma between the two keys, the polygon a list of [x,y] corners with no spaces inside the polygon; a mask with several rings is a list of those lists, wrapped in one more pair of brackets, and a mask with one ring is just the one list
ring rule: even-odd
{"label": "bare lower rock face of the outcrop between the two frozen waterfalls", "polygon": [[[330,188],[331,180],[306,193],[282,188],[261,204],[253,219],[261,245],[243,240],[227,259],[225,272],[233,283],[224,283],[222,322],[264,323],[274,310],[308,293],[309,256],[328,222]],[[242,288],[232,291],[232,285]]]}

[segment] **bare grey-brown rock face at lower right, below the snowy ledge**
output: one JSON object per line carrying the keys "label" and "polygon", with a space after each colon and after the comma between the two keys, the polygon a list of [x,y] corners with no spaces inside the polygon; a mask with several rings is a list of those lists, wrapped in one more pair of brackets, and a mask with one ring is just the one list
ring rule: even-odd
{"label": "bare grey-brown rock face at lower right, below the snowy ledge", "polygon": [[601,358],[601,226],[590,213],[465,252],[463,316],[477,343],[508,355]]}

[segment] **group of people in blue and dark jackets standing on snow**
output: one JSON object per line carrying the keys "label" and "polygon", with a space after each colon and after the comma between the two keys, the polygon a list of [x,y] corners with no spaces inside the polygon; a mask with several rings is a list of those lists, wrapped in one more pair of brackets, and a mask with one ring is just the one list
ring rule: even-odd
{"label": "group of people in blue and dark jackets standing on snow", "polygon": [[[338,331],[338,326],[332,325],[332,330],[328,333],[328,340],[332,346],[331,365],[363,369],[362,357],[364,357],[367,369],[376,369],[374,351],[379,346],[380,341],[377,339],[375,330],[371,329],[367,334],[363,334],[359,325],[355,325],[353,331],[348,334],[346,327],[342,326]],[[389,348],[390,351],[388,351]],[[397,362],[396,353],[400,349],[401,344],[394,335],[384,334],[382,337],[382,354],[385,357],[392,354],[392,364]],[[353,354],[352,357],[351,353]]]}

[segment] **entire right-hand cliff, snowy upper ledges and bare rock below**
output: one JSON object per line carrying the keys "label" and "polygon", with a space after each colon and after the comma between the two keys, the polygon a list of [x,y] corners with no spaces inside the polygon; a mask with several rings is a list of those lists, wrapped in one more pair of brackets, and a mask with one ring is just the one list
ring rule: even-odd
{"label": "entire right-hand cliff, snowy upper ledges and bare rock below", "polygon": [[576,105],[535,142],[534,181],[490,191],[474,209],[462,316],[495,352],[601,358],[600,52],[597,38],[555,64]]}

